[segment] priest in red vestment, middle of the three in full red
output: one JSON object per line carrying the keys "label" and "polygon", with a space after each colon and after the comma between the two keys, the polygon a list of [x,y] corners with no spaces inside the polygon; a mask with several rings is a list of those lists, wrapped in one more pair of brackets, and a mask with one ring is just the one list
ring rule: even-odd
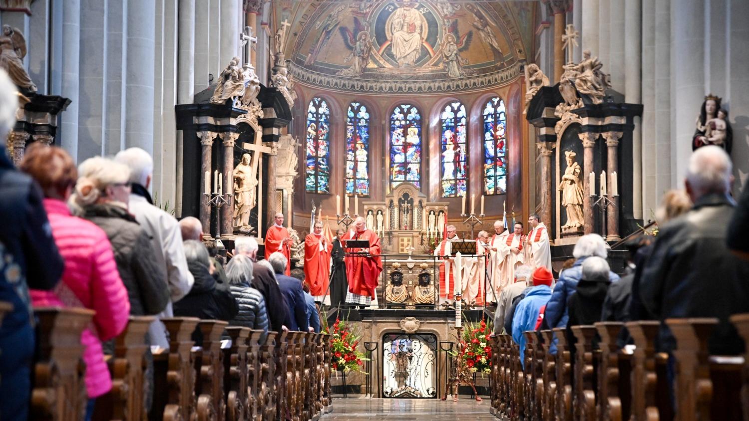
{"label": "priest in red vestment, middle of the three in full red", "polygon": [[323,302],[330,281],[330,251],[333,243],[323,235],[323,223],[315,222],[315,230],[304,239],[304,281],[315,301]]}

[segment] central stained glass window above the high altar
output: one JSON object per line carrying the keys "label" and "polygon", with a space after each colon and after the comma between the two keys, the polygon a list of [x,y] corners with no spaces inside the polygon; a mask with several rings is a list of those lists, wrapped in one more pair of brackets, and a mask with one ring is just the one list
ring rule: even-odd
{"label": "central stained glass window above the high altar", "polygon": [[395,107],[390,116],[390,186],[421,181],[421,114],[410,104]]}

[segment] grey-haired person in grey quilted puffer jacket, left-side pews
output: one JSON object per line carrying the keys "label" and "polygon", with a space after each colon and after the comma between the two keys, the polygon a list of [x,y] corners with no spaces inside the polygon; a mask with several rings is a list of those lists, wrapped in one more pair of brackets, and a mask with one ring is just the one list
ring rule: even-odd
{"label": "grey-haired person in grey quilted puffer jacket, left-side pews", "polygon": [[[229,325],[243,326],[268,333],[268,314],[263,295],[252,287],[252,260],[247,256],[234,256],[226,265],[231,295],[237,300],[239,312]],[[263,337],[264,338],[264,337]]]}

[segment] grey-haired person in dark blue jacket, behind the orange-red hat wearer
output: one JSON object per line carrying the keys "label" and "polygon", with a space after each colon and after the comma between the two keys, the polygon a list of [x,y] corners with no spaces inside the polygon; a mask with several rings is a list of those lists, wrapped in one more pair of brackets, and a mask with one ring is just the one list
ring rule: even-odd
{"label": "grey-haired person in dark blue jacket, behind the orange-red hat wearer", "polygon": [[[549,303],[546,304],[546,322],[551,328],[566,328],[569,319],[567,302],[577,290],[577,283],[583,277],[583,262],[590,256],[598,256],[606,259],[606,242],[598,234],[588,234],[580,237],[572,251],[575,262],[571,268],[565,269],[560,274],[557,285],[554,286],[554,292],[551,294]],[[619,275],[609,271],[609,280],[616,282]],[[554,337],[554,343],[549,348],[549,353],[557,354],[557,338]]]}

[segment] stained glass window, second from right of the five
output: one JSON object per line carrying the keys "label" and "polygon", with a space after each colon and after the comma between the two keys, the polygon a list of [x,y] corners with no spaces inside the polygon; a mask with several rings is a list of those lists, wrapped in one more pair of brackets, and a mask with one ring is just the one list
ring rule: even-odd
{"label": "stained glass window, second from right of the five", "polygon": [[466,194],[466,108],[451,102],[442,114],[442,197]]}

